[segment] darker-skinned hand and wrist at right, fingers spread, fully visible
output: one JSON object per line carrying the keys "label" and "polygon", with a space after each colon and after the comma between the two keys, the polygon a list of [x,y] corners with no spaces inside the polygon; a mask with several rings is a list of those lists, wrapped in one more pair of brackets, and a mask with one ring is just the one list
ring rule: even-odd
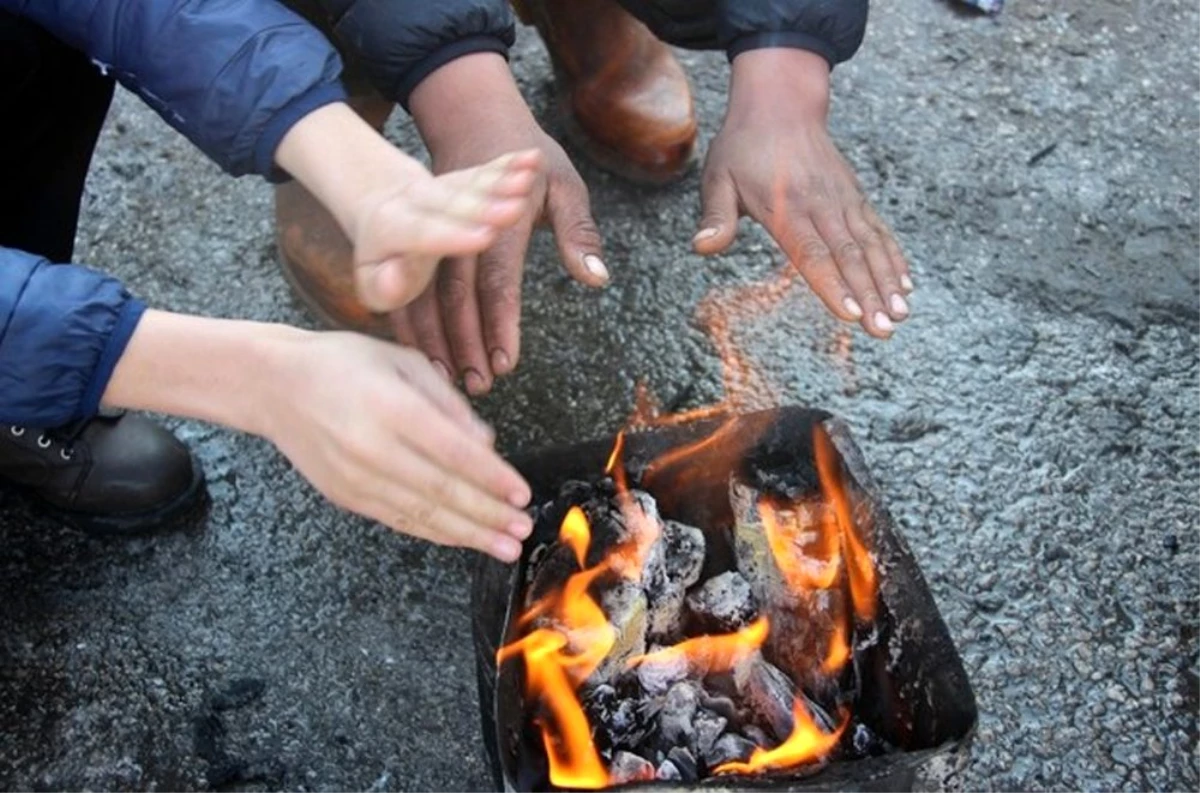
{"label": "darker-skinned hand and wrist at right, fingers spread, fully visible", "polygon": [[908,263],[829,137],[828,65],[799,49],[733,61],[730,106],[704,164],[698,253],[728,248],[739,214],[762,223],[836,317],[888,338],[908,317]]}

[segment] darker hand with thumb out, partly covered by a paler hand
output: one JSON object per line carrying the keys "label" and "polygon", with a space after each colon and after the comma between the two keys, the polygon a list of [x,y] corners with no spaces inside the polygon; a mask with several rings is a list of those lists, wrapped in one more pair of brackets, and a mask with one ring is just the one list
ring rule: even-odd
{"label": "darker hand with thumb out, partly covered by a paler hand", "polygon": [[534,227],[551,227],[565,270],[592,287],[608,281],[600,233],[583,179],[529,113],[503,58],[481,53],[451,61],[418,85],[409,106],[437,173],[503,151],[536,150],[542,157],[526,215],[478,257],[444,262],[436,282],[392,313],[402,343],[419,347],[449,379],[462,378],[469,394],[481,395],[521,354],[521,280]]}

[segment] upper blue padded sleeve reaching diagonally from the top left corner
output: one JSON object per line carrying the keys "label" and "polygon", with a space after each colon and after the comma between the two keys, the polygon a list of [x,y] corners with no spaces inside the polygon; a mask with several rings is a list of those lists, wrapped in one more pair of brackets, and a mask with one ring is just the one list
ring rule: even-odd
{"label": "upper blue padded sleeve reaching diagonally from the top left corner", "polygon": [[325,37],[275,0],[0,0],[90,55],[230,174],[274,173],[293,124],[344,98]]}

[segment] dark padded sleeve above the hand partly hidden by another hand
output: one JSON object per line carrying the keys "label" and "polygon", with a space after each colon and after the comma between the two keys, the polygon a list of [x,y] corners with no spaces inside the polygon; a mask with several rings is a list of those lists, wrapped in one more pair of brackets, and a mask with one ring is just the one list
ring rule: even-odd
{"label": "dark padded sleeve above the hand partly hidden by another hand", "polygon": [[509,0],[286,0],[318,6],[338,46],[377,91],[407,107],[438,67],[470,53],[508,56],[515,41]]}

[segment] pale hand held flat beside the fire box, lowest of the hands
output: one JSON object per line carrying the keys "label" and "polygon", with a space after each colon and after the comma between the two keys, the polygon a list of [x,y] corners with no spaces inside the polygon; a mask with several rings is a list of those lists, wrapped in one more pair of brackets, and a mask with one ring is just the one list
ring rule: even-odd
{"label": "pale hand held flat beside the fire box, lowest of the hands", "polygon": [[260,434],[329,500],[439,545],[520,557],[529,486],[425,356],[334,332],[283,349]]}

